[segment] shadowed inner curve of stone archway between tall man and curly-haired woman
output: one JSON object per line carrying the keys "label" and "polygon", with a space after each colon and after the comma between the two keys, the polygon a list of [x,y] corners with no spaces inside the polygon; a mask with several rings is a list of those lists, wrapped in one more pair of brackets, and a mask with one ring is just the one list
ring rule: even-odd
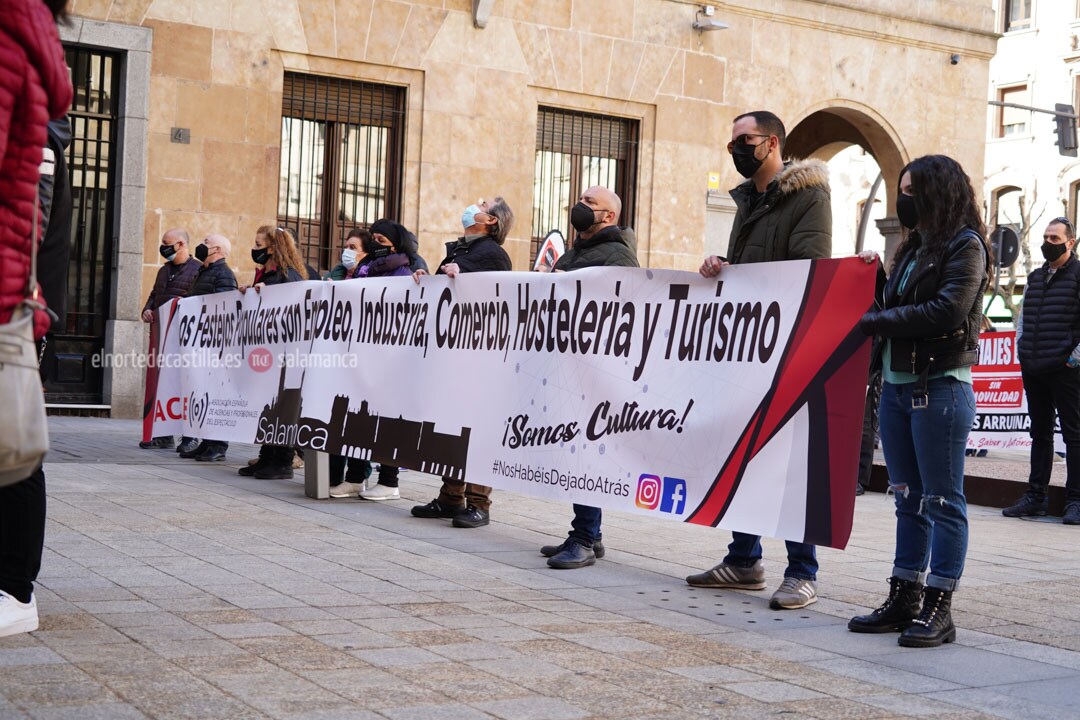
{"label": "shadowed inner curve of stone archway between tall man and curly-haired woman", "polygon": [[785,153],[791,158],[812,157],[828,162],[851,146],[859,146],[872,155],[883,177],[876,196],[878,201],[885,202],[886,212],[885,217],[876,222],[886,239],[885,259],[888,262],[900,244],[901,227],[896,219],[895,187],[907,159],[899,138],[885,119],[869,108],[836,101],[811,109],[788,131]]}

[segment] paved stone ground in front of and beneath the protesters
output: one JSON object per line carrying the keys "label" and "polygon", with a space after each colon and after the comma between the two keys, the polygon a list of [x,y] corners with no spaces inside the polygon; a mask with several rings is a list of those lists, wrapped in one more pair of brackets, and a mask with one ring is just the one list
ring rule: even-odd
{"label": "paved stone ground in front of and beneath the protesters", "polygon": [[42,627],[0,639],[0,718],[1076,718],[1080,528],[972,507],[956,644],[848,633],[891,567],[891,502],[859,499],[846,552],[820,552],[821,601],[701,590],[723,530],[609,513],[604,560],[537,548],[568,505],[496,492],[492,524],[392,503],[314,501],[138,450],[129,421],[55,418]]}

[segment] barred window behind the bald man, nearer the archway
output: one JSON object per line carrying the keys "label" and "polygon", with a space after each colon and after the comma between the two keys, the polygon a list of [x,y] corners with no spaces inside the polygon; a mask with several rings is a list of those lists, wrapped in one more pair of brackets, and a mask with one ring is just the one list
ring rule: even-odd
{"label": "barred window behind the bald man, nearer the archway", "polygon": [[570,208],[585,189],[610,188],[622,199],[619,225],[633,227],[639,123],[590,112],[540,108],[532,180],[532,243],[559,230],[573,243]]}

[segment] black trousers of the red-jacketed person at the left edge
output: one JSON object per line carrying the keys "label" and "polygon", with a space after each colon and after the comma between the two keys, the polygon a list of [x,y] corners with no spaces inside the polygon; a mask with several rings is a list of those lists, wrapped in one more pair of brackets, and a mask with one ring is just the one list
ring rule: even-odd
{"label": "black trousers of the red-jacketed person at the left edge", "polygon": [[0,590],[29,602],[45,545],[45,473],[0,488]]}

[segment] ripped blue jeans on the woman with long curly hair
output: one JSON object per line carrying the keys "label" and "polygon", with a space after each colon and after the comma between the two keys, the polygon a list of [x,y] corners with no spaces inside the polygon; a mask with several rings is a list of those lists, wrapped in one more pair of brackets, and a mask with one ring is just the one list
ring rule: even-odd
{"label": "ripped blue jeans on the woman with long curly hair", "polygon": [[885,383],[879,410],[881,447],[896,503],[892,574],[954,590],[968,554],[963,450],[975,420],[971,385],[956,378],[928,384],[928,404],[912,407],[915,383]]}

